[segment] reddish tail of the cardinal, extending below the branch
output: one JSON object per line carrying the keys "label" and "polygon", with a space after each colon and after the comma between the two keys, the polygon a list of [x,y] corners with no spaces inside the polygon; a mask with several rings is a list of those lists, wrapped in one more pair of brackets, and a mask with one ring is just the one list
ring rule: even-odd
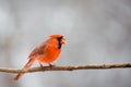
{"label": "reddish tail of the cardinal, extending below the branch", "polygon": [[[29,61],[25,64],[25,66],[23,67],[23,70],[31,67],[34,62],[35,62],[35,59],[29,59]],[[23,75],[24,75],[24,73],[17,74],[17,75],[14,77],[14,80],[19,80]]]}

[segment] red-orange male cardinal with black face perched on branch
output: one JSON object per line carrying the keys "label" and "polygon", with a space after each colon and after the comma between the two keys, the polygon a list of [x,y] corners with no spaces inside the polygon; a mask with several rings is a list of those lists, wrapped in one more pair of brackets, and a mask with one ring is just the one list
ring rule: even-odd
{"label": "red-orange male cardinal with black face perched on branch", "polygon": [[[62,44],[66,44],[66,38],[62,35],[51,35],[49,39],[31,52],[28,57],[29,61],[25,64],[23,70],[31,67],[31,65],[36,61],[40,66],[43,63],[51,65],[51,63],[58,59]],[[20,73],[14,79],[19,80],[23,75],[24,73]]]}

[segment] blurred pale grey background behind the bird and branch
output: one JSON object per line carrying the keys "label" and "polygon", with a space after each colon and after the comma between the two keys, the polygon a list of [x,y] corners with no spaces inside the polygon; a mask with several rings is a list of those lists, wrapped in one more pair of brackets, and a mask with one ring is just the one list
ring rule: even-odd
{"label": "blurred pale grey background behind the bird and branch", "polygon": [[[56,65],[131,62],[131,0],[0,0],[0,67],[22,69],[51,34],[68,40]],[[0,87],[131,87],[130,69],[14,76]]]}

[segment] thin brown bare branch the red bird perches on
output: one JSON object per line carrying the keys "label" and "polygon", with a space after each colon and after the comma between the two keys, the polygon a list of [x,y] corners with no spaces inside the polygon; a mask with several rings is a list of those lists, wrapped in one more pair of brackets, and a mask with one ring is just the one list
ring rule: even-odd
{"label": "thin brown bare branch the red bird perches on", "polygon": [[5,72],[5,73],[33,73],[33,72],[46,72],[46,71],[105,70],[105,69],[126,69],[126,67],[131,67],[131,63],[99,64],[99,65],[44,66],[44,67],[31,67],[28,70],[14,70],[14,69],[8,69],[8,67],[0,67],[0,72]]}

